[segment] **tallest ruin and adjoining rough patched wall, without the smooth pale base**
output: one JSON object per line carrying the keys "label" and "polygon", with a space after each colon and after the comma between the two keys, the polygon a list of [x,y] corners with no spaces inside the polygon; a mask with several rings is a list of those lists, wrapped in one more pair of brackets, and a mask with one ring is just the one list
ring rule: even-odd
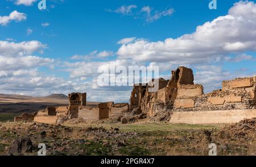
{"label": "tallest ruin and adjoining rough patched wall, without the smooth pale base", "polygon": [[[151,81],[146,86],[146,93],[141,94],[136,105],[130,103],[131,110],[141,111],[154,116],[159,111],[199,112],[199,111],[233,111],[256,108],[256,77],[236,78],[222,82],[222,90],[204,94],[203,85],[194,84],[192,69],[180,66],[172,71],[171,80],[166,81],[155,92],[150,92]],[[158,81],[158,80],[155,80]],[[163,81],[162,78],[159,81]],[[140,88],[134,90],[139,93]],[[144,87],[143,87],[144,89]],[[144,96],[143,96],[144,95]]]}

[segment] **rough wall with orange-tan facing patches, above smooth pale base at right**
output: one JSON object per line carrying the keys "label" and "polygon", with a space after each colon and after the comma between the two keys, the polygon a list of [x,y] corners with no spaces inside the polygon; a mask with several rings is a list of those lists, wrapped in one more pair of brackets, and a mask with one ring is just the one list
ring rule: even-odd
{"label": "rough wall with orange-tan facing patches, above smooth pale base at right", "polygon": [[[174,111],[244,110],[255,108],[255,78],[236,78],[222,82],[222,90],[194,97],[178,97]],[[179,105],[187,102],[186,105]],[[189,103],[189,105],[188,105]]]}

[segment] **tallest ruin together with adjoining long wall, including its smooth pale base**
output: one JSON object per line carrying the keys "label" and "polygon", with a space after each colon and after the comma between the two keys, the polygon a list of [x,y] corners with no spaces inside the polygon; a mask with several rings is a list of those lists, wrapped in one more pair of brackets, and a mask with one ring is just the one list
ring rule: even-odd
{"label": "tallest ruin together with adjoining long wall, including its smooth pale base", "polygon": [[[150,82],[154,80],[134,86],[130,109],[136,114],[146,113],[147,116],[154,116],[160,111],[171,112],[171,122],[175,123],[196,123],[191,115],[195,116],[200,111],[200,115],[197,115],[199,120],[204,118],[204,114],[208,114],[205,115],[205,120],[208,120],[203,123],[239,122],[256,116],[256,77],[223,81],[221,90],[207,94],[204,94],[203,85],[194,84],[193,80],[192,69],[180,66],[172,71],[171,80],[160,78],[156,81],[159,82],[159,89],[155,92],[148,91],[152,86]],[[209,111],[213,111],[213,116],[209,115]],[[226,114],[226,111],[237,112],[232,115],[232,112]],[[187,116],[188,114],[190,115]],[[191,120],[184,120],[184,115]],[[222,121],[219,121],[219,117]]]}

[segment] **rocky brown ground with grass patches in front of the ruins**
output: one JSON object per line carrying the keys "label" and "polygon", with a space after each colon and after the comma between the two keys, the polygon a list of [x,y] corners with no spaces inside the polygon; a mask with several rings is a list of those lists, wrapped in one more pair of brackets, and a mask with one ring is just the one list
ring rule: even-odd
{"label": "rocky brown ground with grass patches in front of the ruins", "polygon": [[256,155],[256,119],[231,126],[168,123],[94,123],[72,120],[62,125],[0,123],[0,155]]}

